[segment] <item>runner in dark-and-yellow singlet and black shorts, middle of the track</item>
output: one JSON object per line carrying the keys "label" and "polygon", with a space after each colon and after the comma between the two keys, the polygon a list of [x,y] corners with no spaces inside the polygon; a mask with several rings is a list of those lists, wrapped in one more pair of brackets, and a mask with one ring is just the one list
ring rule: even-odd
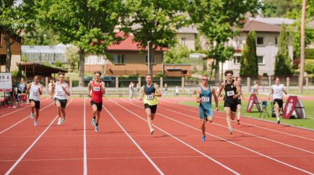
{"label": "runner in dark-and-yellow singlet and black shorts, middle of the track", "polygon": [[144,97],[144,108],[147,115],[147,124],[149,126],[149,131],[151,134],[155,132],[154,128],[151,127],[151,121],[154,120],[156,109],[157,109],[157,97],[161,97],[161,92],[156,83],[152,83],[153,76],[151,74],[147,74],[145,76],[146,85],[143,86],[143,94],[140,97],[140,101],[142,101]]}

